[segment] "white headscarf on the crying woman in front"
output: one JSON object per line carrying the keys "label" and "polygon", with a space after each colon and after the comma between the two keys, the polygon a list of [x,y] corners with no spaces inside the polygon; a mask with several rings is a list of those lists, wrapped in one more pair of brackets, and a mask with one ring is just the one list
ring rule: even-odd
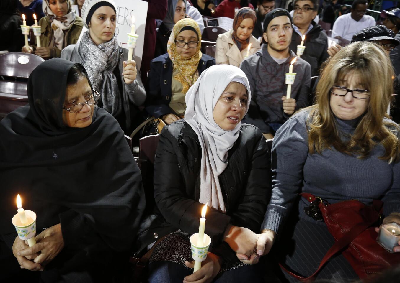
{"label": "white headscarf on the crying woman in front", "polygon": [[[230,82],[240,82],[247,89],[247,107],[251,92],[246,74],[238,67],[216,65],[206,69],[186,93],[185,122],[196,132],[202,149],[200,166],[200,203],[225,212],[218,176],[228,165],[228,150],[239,137],[240,122],[231,131],[222,130],[212,114],[222,92]],[[246,113],[244,115],[246,115]]]}

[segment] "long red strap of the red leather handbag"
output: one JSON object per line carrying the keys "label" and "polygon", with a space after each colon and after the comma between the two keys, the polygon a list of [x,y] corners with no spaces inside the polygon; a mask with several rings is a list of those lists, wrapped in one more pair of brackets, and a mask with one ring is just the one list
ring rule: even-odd
{"label": "long red strap of the red leather handbag", "polygon": [[[310,194],[310,193],[301,193],[303,197],[306,197],[308,201],[315,200],[315,196]],[[323,205],[322,203],[320,205]],[[377,203],[378,205],[378,203]],[[348,246],[358,235],[360,235],[363,231],[368,229],[371,225],[373,225],[376,222],[377,219],[373,219],[370,222],[367,223],[358,223],[355,225],[352,229],[350,229],[346,234],[343,235],[340,239],[338,239],[332,247],[326,252],[325,256],[322,258],[322,261],[320,265],[318,266],[318,269],[310,276],[304,277],[301,275],[297,275],[292,271],[289,271],[287,267],[284,267],[282,264],[279,264],[280,267],[286,271],[288,274],[291,276],[295,277],[296,279],[300,281],[307,281],[315,277],[318,272],[322,269],[322,267],[329,261],[330,258],[332,258],[336,253],[341,251],[344,247]]]}

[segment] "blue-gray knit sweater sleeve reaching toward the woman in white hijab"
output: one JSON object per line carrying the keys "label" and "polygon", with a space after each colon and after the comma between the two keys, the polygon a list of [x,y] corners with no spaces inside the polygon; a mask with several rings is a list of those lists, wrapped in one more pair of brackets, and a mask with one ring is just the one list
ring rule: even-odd
{"label": "blue-gray knit sweater sleeve reaching toward the woman in white hijab", "polygon": [[279,233],[301,191],[308,155],[308,114],[308,111],[295,114],[276,132],[272,145],[272,195],[261,229]]}

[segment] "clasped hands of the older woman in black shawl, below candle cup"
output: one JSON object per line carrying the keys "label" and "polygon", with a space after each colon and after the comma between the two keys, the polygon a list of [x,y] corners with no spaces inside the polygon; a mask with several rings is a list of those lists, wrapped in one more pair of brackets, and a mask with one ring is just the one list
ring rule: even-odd
{"label": "clasped hands of the older woman in black shawl, below candle cup", "polygon": [[[47,228],[42,233],[37,235],[36,245],[33,245],[32,247],[26,247],[25,249],[18,251],[16,254],[18,256],[23,256],[28,259],[29,258],[34,259],[33,260],[34,263],[38,263],[40,269],[43,270],[43,267],[50,261],[52,261],[54,257],[56,257],[56,255],[58,255],[58,253],[60,253],[60,251],[63,248],[64,248],[64,239],[62,237],[61,225],[57,224],[50,228]],[[20,261],[18,260],[18,262]],[[30,263],[34,264],[32,263],[32,261],[30,261]],[[37,265],[34,265],[34,267],[37,267]],[[35,270],[40,270],[40,269],[35,269]]]}

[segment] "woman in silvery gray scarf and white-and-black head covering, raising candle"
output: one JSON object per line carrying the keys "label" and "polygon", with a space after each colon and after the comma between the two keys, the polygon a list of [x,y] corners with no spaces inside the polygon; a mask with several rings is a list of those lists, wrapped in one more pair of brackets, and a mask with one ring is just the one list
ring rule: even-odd
{"label": "woman in silvery gray scarf and white-and-black head covering, raising candle", "polygon": [[98,106],[114,116],[125,134],[132,132],[132,113],[146,99],[134,60],[124,61],[128,50],[118,46],[116,6],[112,0],[86,0],[82,20],[89,30],[78,44],[62,50],[61,58],[82,64],[93,88],[100,93]]}

